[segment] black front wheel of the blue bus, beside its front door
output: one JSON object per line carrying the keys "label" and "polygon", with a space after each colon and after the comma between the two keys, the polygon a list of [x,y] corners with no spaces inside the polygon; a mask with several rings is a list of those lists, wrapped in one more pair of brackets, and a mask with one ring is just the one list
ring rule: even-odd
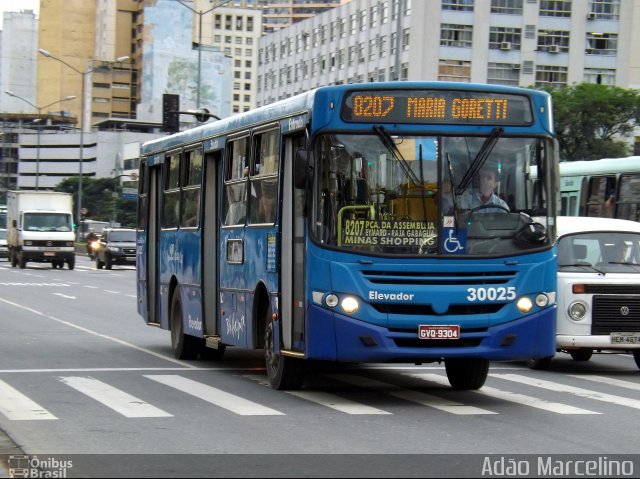
{"label": "black front wheel of the blue bus, beside its front door", "polygon": [[300,389],[304,381],[305,362],[275,351],[273,328],[274,321],[268,319],[264,330],[264,359],[271,387],[277,390]]}

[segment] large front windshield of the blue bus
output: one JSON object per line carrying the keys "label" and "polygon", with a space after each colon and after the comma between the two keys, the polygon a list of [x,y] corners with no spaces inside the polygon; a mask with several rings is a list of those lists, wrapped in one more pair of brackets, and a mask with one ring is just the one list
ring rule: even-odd
{"label": "large front windshield of the blue bus", "polygon": [[[553,159],[550,140],[372,134],[317,138],[316,241],[396,255],[516,254],[548,246],[549,197],[531,165]],[[534,238],[522,232],[534,221]],[[454,241],[453,243],[451,241]]]}

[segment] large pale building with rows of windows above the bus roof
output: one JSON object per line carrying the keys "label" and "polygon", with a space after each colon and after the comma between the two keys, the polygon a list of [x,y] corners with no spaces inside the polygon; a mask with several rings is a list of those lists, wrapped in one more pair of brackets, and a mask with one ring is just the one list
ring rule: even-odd
{"label": "large pale building with rows of windows above the bus roof", "polygon": [[638,21],[638,0],[353,0],[260,40],[257,104],[386,80],[639,88]]}

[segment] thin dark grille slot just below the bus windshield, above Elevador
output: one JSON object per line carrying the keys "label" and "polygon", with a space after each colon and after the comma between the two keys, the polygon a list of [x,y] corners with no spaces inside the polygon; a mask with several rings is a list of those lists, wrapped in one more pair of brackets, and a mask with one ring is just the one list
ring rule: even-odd
{"label": "thin dark grille slot just below the bus windshield, above Elevador", "polygon": [[464,284],[506,284],[515,278],[515,271],[473,272],[473,271],[362,271],[364,278],[373,284],[464,285]]}

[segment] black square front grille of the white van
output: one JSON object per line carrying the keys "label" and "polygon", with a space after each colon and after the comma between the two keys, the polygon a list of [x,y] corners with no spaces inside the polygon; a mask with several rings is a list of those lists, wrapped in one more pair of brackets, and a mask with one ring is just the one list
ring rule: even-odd
{"label": "black square front grille of the white van", "polygon": [[612,332],[640,332],[640,297],[593,297],[591,334]]}

